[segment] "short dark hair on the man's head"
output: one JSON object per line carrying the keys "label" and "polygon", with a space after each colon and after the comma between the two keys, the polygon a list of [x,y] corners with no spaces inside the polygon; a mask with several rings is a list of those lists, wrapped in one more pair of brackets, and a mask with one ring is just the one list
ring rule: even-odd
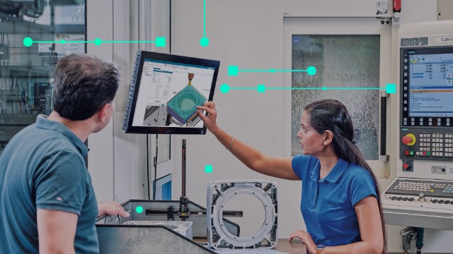
{"label": "short dark hair on the man's head", "polygon": [[120,71],[97,56],[71,54],[55,67],[53,110],[70,120],[85,120],[112,102],[120,85]]}

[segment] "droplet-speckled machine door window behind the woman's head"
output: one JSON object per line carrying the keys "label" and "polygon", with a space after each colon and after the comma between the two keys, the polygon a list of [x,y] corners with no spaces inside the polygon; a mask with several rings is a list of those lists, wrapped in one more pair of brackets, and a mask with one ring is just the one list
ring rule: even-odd
{"label": "droplet-speckled machine door window behind the woman's head", "polygon": [[[292,35],[292,69],[316,68],[315,75],[292,73],[294,136],[306,104],[338,99],[352,117],[357,146],[367,159],[378,159],[379,40],[379,35]],[[292,140],[292,155],[302,153]]]}

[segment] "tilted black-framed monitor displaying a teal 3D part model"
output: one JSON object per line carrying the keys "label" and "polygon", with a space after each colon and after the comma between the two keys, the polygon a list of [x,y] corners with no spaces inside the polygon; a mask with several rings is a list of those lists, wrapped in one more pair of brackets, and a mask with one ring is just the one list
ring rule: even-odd
{"label": "tilted black-framed monitor displaying a teal 3D part model", "polygon": [[211,101],[219,61],[137,52],[123,129],[126,133],[205,134],[197,106]]}

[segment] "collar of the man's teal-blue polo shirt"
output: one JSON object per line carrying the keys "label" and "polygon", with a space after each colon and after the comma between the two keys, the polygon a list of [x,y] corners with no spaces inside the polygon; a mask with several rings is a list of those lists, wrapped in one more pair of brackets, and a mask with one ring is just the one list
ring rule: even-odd
{"label": "collar of the man's teal-blue polo shirt", "polygon": [[47,119],[47,116],[40,114],[36,118],[36,125],[38,128],[44,128],[47,130],[52,130],[52,131],[57,131],[59,133],[62,133],[66,138],[71,140],[74,145],[79,148],[79,151],[81,152],[82,156],[86,156],[88,154],[88,147],[86,147],[85,143],[80,140],[79,137],[76,136],[67,126],[65,126],[63,123],[59,123],[57,121],[52,121]]}

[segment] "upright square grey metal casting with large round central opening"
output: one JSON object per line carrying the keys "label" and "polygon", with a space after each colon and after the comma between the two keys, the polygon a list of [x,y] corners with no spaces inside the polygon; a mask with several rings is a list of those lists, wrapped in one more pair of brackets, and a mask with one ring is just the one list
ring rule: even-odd
{"label": "upright square grey metal casting with large round central opening", "polygon": [[[238,195],[251,195],[265,210],[265,219],[255,234],[232,234],[224,222],[226,203]],[[207,186],[207,241],[216,249],[274,248],[277,244],[277,188],[273,181],[213,181]]]}

